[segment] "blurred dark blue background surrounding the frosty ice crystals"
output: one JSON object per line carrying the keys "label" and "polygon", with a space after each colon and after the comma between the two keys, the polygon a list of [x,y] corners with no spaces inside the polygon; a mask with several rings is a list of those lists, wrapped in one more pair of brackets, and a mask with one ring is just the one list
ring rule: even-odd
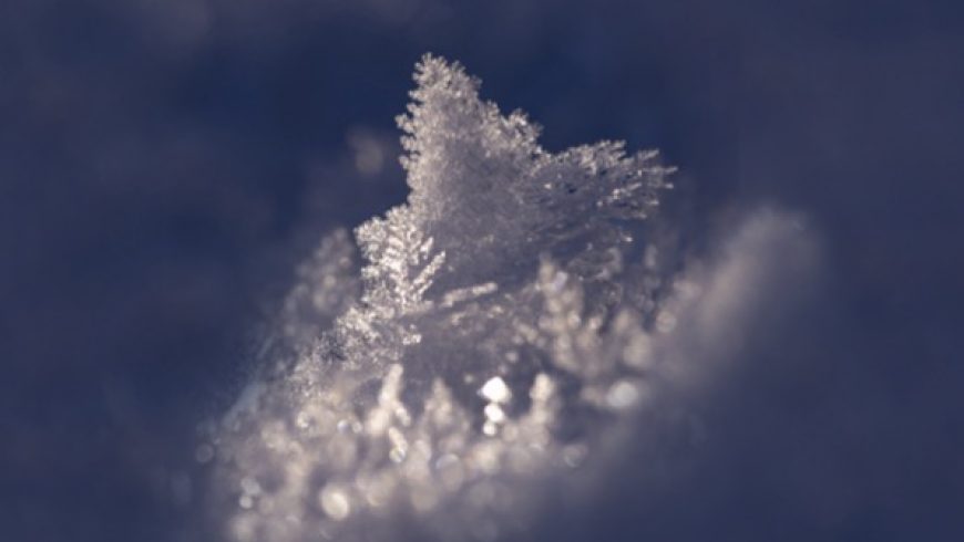
{"label": "blurred dark blue background surrounding the frosty ice crystals", "polygon": [[404,199],[424,52],[552,150],[660,148],[694,231],[772,204],[824,250],[685,475],[533,540],[962,540],[964,8],[888,0],[2,2],[2,540],[214,540],[195,426],[321,234]]}

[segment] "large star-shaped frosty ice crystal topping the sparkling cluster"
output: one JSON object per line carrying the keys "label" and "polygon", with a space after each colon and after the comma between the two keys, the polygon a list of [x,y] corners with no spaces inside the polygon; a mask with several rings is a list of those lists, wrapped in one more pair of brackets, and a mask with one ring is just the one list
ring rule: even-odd
{"label": "large star-shaped frosty ice crystal topping the sparkling cluster", "polygon": [[459,64],[425,56],[416,82],[399,117],[408,212],[382,227],[411,221],[434,239],[449,254],[447,285],[527,278],[540,253],[583,278],[603,272],[630,240],[623,222],[656,207],[668,171],[655,152],[627,156],[622,143],[602,142],[553,155],[524,114],[480,101],[479,81]]}

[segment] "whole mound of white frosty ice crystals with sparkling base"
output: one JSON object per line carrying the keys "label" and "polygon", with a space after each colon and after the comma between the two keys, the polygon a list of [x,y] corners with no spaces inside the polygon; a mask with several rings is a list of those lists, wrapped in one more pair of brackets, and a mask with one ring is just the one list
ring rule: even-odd
{"label": "whole mound of white frosty ice crystals with sparkling base", "polygon": [[325,239],[198,449],[228,540],[509,536],[652,392],[665,278],[634,236],[669,169],[552,154],[457,63],[414,80],[407,204]]}

